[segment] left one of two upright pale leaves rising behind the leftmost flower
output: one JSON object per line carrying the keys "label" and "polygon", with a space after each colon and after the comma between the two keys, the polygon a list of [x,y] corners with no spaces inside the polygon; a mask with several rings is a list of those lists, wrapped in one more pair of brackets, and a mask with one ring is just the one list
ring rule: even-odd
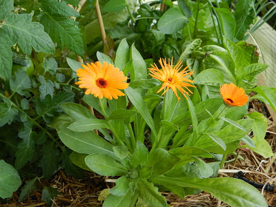
{"label": "left one of two upright pale leaves rising behind the leftmost flower", "polygon": [[126,64],[129,61],[130,48],[126,39],[122,39],[116,52],[115,67],[124,71]]}

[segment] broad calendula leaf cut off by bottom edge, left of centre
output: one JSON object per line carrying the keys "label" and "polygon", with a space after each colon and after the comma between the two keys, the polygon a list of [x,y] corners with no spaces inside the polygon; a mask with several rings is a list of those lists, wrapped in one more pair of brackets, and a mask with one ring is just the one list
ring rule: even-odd
{"label": "broad calendula leaf cut off by bottom edge, left of centre", "polygon": [[133,199],[133,192],[132,190],[128,189],[124,195],[116,196],[108,195],[106,199],[104,199],[103,207],[121,207],[121,206],[130,206]]}

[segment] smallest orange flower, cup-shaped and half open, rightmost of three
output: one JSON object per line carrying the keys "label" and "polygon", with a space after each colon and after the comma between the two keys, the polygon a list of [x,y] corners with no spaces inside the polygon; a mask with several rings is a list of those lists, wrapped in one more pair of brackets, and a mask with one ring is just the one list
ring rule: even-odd
{"label": "smallest orange flower, cup-shaped and half open, rightmost of three", "polygon": [[224,103],[228,106],[244,106],[248,102],[244,89],[237,87],[234,83],[225,83],[219,90]]}

